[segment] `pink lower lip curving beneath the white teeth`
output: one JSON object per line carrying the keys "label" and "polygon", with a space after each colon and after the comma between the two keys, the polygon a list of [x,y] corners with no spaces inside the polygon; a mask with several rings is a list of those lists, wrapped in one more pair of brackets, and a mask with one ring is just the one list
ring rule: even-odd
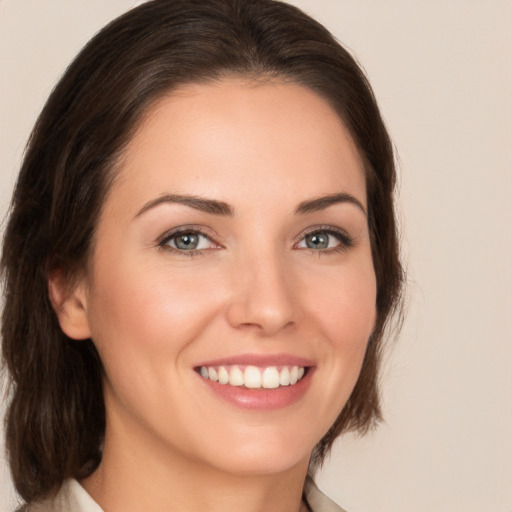
{"label": "pink lower lip curving beneath the white teeth", "polygon": [[283,409],[298,402],[308,390],[311,382],[313,368],[308,368],[304,377],[293,386],[281,386],[275,389],[249,389],[243,386],[230,386],[198,377],[217,396],[241,409],[270,411]]}

